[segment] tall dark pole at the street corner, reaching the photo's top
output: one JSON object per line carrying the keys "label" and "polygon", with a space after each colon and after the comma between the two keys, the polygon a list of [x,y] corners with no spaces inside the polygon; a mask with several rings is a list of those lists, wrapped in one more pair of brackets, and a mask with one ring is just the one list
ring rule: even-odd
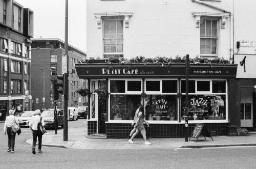
{"label": "tall dark pole at the street corner, reaching the photo's top", "polygon": [[[69,83],[68,77],[69,77],[69,41],[68,41],[68,28],[69,28],[69,1],[66,0],[66,9],[65,9],[65,55],[67,56],[67,75],[64,78],[67,78],[67,84]],[[63,103],[63,111],[64,111],[64,116],[63,116],[63,141],[68,141],[68,91],[69,91],[69,86],[65,85],[64,87],[64,103]]]}

